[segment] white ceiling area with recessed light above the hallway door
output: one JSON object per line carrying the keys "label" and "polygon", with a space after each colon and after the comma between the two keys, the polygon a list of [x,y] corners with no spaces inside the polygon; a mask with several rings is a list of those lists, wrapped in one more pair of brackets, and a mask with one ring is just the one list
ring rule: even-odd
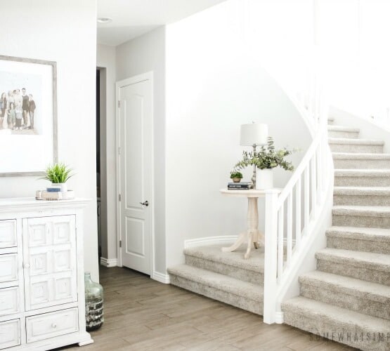
{"label": "white ceiling area with recessed light above the hallway door", "polygon": [[117,46],[225,0],[98,0],[98,44]]}

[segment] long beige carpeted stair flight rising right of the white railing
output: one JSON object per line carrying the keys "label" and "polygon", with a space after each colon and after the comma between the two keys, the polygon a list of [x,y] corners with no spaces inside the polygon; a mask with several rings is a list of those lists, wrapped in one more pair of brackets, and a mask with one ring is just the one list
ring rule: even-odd
{"label": "long beige carpeted stair flight rising right of the white railing", "polygon": [[285,323],[360,350],[390,350],[390,154],[383,141],[329,126],[333,226],[301,295],[282,304]]}

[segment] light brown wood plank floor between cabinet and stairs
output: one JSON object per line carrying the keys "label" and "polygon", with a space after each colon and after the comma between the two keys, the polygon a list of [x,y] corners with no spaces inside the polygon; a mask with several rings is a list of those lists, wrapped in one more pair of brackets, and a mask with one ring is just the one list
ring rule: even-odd
{"label": "light brown wood plank floor between cabinet and stairs", "polygon": [[105,323],[95,343],[58,350],[355,350],[127,268],[100,267]]}

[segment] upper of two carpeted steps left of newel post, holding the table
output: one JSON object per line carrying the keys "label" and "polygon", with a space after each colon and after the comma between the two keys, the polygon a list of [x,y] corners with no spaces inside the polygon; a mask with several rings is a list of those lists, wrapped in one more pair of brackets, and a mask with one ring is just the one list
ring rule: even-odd
{"label": "upper of two carpeted steps left of newel post, holding the table", "polygon": [[264,248],[252,249],[244,258],[246,245],[233,252],[222,252],[221,246],[201,246],[184,249],[186,264],[210,270],[254,284],[264,284]]}

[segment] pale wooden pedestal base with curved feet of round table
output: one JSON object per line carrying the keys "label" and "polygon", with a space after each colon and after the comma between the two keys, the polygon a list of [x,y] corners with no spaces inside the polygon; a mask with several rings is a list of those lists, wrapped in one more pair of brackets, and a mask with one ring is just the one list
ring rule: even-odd
{"label": "pale wooden pedestal base with curved feet of round table", "polygon": [[264,235],[259,232],[259,212],[257,210],[257,197],[248,198],[248,213],[247,213],[247,232],[242,232],[238,236],[237,241],[232,246],[223,247],[223,252],[231,252],[238,249],[247,237],[247,252],[244,258],[247,259],[250,256],[252,249],[252,243],[255,249],[259,248],[259,240],[264,244]]}

